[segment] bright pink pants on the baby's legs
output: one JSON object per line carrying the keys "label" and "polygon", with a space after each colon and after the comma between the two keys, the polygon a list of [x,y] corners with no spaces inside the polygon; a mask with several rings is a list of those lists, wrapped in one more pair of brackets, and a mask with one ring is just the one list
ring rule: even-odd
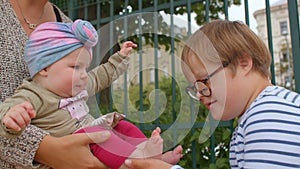
{"label": "bright pink pants on the baby's legs", "polygon": [[[107,130],[101,126],[86,127],[75,133],[91,133]],[[90,144],[92,153],[111,169],[118,169],[136,146],[147,140],[143,132],[132,123],[122,120],[109,130],[110,138],[104,143]]]}

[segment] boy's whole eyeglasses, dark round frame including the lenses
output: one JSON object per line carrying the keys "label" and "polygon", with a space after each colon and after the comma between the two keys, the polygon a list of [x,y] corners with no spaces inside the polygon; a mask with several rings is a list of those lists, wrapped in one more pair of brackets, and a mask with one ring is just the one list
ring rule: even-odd
{"label": "boy's whole eyeglasses, dark round frame including the lenses", "polygon": [[206,78],[202,80],[197,80],[194,82],[194,84],[186,87],[185,91],[186,93],[195,100],[199,100],[197,97],[197,94],[200,93],[202,96],[209,97],[211,96],[211,89],[208,86],[208,80],[211,79],[213,75],[221,71],[223,68],[227,67],[229,65],[228,62],[224,62],[223,65],[219,66],[215,71],[213,71],[211,74],[207,75]]}

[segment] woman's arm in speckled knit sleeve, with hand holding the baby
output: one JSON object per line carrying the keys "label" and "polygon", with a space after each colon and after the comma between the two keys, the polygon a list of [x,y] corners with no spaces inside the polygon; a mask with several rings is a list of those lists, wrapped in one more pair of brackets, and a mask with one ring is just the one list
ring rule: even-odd
{"label": "woman's arm in speckled knit sleeve, with hand holding the baby", "polygon": [[15,139],[0,137],[1,165],[7,169],[22,166],[34,168],[46,164],[52,168],[95,168],[106,169],[90,151],[90,143],[100,143],[109,137],[106,132],[75,134],[52,137],[43,130],[29,125],[23,134]]}

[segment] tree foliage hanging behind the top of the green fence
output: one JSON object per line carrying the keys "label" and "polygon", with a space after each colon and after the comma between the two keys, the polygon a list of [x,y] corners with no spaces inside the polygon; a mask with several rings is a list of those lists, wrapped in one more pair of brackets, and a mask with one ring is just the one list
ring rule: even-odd
{"label": "tree foliage hanging behind the top of the green fence", "polygon": [[[169,0],[128,0],[125,4],[124,0],[100,0],[100,8],[96,0],[76,0],[76,1],[63,1],[63,0],[51,0],[54,4],[58,5],[65,13],[68,14],[69,10],[72,10],[73,16],[76,18],[85,18],[89,21],[97,20],[97,12],[100,12],[101,26],[114,21],[114,35],[116,37],[122,36],[125,33],[125,25],[123,22],[116,21],[119,18],[128,15],[136,15],[126,20],[126,30],[139,29],[138,25],[142,25],[143,32],[131,32],[131,34],[125,37],[129,37],[130,40],[138,42],[140,38],[139,33],[142,33],[143,38],[148,44],[154,44],[154,35],[169,35],[170,36],[170,25],[168,25],[160,12],[166,14],[183,15],[188,12],[195,13],[195,17],[192,18],[200,26],[206,21],[206,15],[209,20],[219,19],[220,16],[224,15],[224,3],[225,1],[219,0],[201,0],[191,1],[191,8],[187,8],[187,2],[182,0],[174,0],[173,8],[171,8],[171,2]],[[206,2],[209,3],[209,12],[206,12]],[[70,4],[72,3],[72,4]],[[231,5],[240,5],[241,0],[228,0],[228,7]],[[72,9],[69,9],[71,7]],[[100,9],[100,10],[99,10]],[[146,13],[155,12],[157,15],[149,15]],[[86,16],[87,14],[87,16]],[[141,15],[140,15],[141,14]],[[141,18],[142,17],[142,18]],[[157,21],[157,30],[154,30],[154,18]],[[142,23],[141,23],[142,21]],[[98,22],[98,21],[96,21]],[[186,26],[186,25],[182,25]],[[140,31],[140,30],[139,30]],[[169,36],[161,36],[158,38],[158,43],[161,45],[170,44]],[[169,49],[168,47],[166,49]]]}

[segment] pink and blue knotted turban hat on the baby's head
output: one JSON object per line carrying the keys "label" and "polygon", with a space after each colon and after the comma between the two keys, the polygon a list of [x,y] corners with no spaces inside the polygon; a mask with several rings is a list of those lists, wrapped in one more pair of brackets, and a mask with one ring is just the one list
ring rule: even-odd
{"label": "pink and blue knotted turban hat on the baby's head", "polygon": [[80,47],[88,49],[92,57],[92,47],[97,41],[98,34],[88,21],[78,19],[74,23],[39,25],[31,33],[24,51],[30,77]]}

